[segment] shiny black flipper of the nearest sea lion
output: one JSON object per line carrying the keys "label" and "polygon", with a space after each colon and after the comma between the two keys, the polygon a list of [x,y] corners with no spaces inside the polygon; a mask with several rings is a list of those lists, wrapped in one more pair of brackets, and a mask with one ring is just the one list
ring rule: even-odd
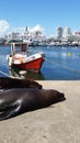
{"label": "shiny black flipper of the nearest sea lion", "polygon": [[9,119],[9,118],[12,118],[12,117],[18,116],[18,114],[19,114],[19,111],[20,111],[20,106],[16,106],[16,107],[14,107],[14,108],[11,108],[11,109],[9,109],[9,110],[2,112],[2,113],[0,114],[0,121],[1,121],[1,120],[7,120],[7,119]]}

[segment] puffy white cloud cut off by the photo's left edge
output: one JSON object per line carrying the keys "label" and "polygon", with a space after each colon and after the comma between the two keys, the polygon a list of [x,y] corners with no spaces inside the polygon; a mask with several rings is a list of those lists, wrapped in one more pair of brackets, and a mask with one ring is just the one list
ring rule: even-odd
{"label": "puffy white cloud cut off by the photo's left edge", "polygon": [[9,28],[10,25],[5,20],[0,20],[0,35],[3,35]]}

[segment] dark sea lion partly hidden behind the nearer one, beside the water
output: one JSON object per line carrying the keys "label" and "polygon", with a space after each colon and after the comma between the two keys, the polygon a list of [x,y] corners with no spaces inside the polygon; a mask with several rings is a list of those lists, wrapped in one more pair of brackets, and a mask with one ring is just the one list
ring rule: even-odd
{"label": "dark sea lion partly hidden behind the nearer one, beside the water", "polygon": [[11,88],[38,88],[42,89],[42,85],[33,79],[18,79],[10,77],[0,77],[0,89]]}

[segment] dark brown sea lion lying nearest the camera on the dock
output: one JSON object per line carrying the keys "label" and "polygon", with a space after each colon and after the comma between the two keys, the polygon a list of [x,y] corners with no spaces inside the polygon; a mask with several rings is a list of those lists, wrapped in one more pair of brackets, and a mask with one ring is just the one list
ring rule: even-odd
{"label": "dark brown sea lion lying nearest the camera on the dock", "polygon": [[8,89],[0,92],[0,121],[65,100],[54,89]]}

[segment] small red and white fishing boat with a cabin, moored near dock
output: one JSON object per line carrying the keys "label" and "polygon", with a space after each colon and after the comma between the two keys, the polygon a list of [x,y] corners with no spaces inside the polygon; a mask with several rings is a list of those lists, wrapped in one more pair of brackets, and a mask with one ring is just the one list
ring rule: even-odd
{"label": "small red and white fishing boat with a cabin, moored near dock", "polygon": [[14,66],[21,69],[39,73],[44,63],[44,53],[38,52],[30,55],[27,43],[12,43],[11,54],[7,55],[9,67]]}

